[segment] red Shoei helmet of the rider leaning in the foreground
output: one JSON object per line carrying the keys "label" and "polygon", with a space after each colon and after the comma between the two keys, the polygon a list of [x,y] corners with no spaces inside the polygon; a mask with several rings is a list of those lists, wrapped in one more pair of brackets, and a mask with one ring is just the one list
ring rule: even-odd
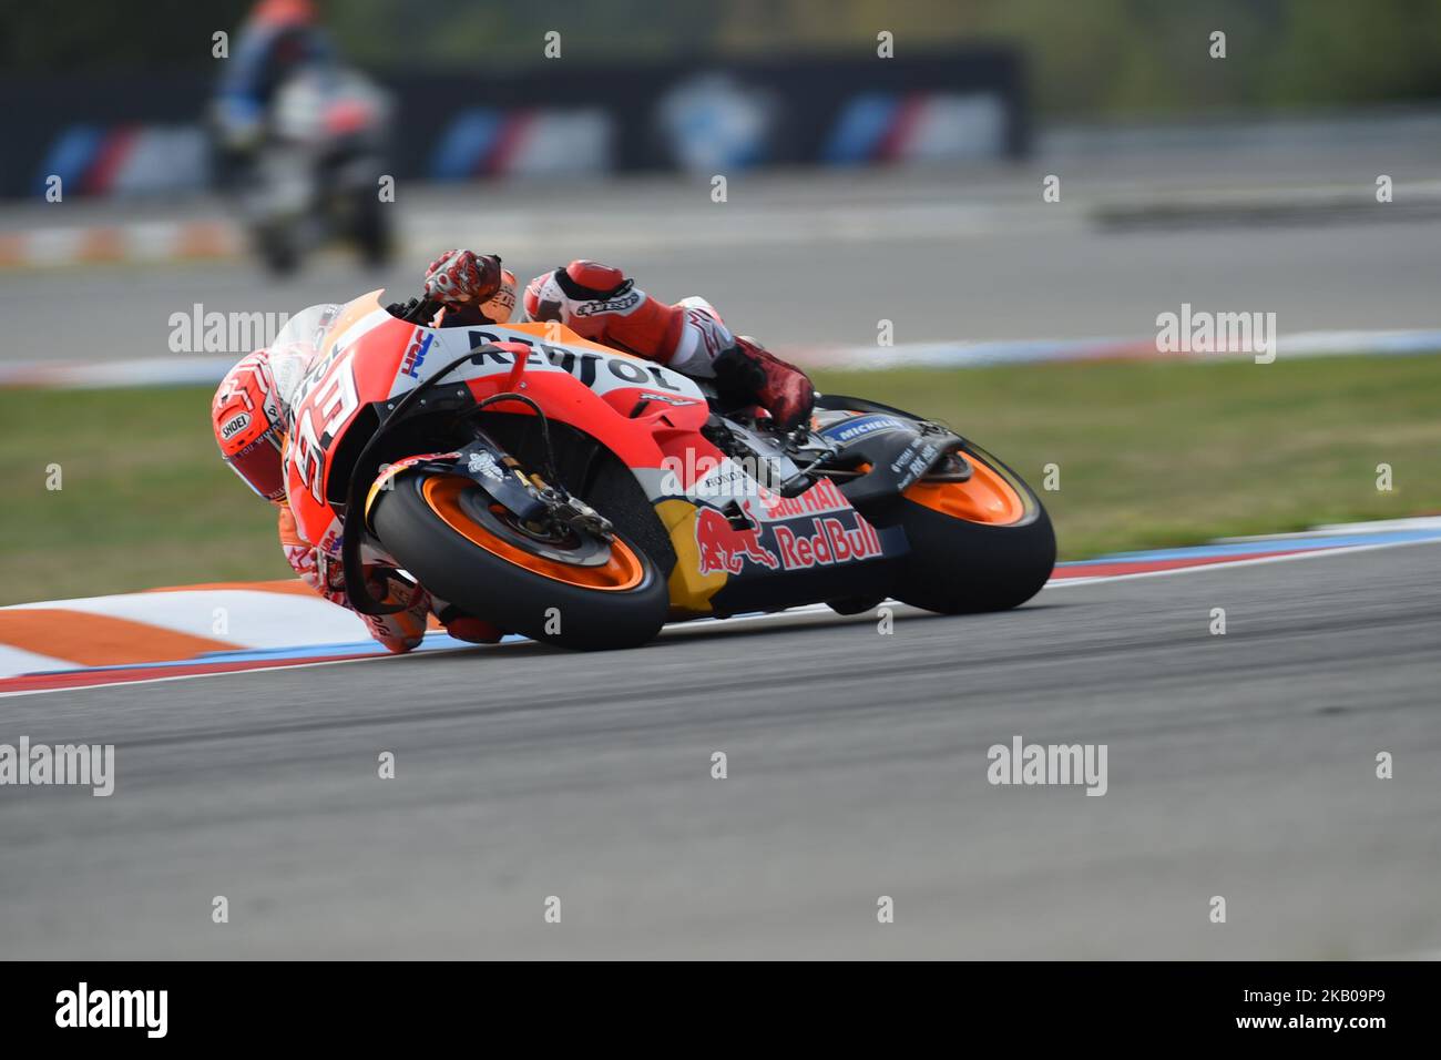
{"label": "red Shoei helmet of the rider leaning in the foreground", "polygon": [[251,353],[220,381],[210,425],[231,470],[267,500],[282,502],[285,421],[265,350]]}

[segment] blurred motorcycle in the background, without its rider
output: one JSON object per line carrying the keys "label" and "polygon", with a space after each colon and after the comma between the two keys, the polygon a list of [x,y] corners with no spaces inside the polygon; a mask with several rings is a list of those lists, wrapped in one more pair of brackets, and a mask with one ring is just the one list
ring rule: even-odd
{"label": "blurred motorcycle in the background, without its rider", "polygon": [[244,198],[271,273],[294,271],[331,238],[350,239],[366,264],[389,258],[391,218],[378,183],[389,114],[389,97],[353,69],[308,69],[280,88]]}

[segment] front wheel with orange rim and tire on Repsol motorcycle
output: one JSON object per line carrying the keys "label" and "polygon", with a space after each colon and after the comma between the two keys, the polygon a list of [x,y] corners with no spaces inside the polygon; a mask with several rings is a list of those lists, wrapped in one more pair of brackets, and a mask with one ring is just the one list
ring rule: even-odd
{"label": "front wheel with orange rim and tire on Repsol motorcycle", "polygon": [[399,476],[372,525],[431,593],[507,632],[595,650],[643,645],[666,620],[666,580],[644,549],[522,525],[458,474]]}

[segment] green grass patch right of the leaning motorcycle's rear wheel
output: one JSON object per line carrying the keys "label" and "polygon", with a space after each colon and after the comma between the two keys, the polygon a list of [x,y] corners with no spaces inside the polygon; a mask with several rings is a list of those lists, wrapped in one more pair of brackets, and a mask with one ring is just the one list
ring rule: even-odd
{"label": "green grass patch right of the leaning motorcycle's rear wheel", "polygon": [[[1063,560],[1441,511],[1441,358],[824,374],[1022,474]],[[1059,467],[1056,492],[1042,489]],[[1391,492],[1376,489],[1388,463]]]}

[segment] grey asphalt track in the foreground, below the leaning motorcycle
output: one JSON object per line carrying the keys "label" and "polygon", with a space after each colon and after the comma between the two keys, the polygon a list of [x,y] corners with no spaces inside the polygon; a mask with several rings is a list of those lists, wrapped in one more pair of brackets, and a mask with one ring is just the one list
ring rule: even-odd
{"label": "grey asphalt track in the foreground, below the leaning motorcycle", "polygon": [[[1438,560],[1058,586],[891,636],[774,617],[12,697],[7,733],[115,743],[118,779],[0,799],[0,953],[1434,952]],[[1107,795],[991,786],[1013,736],[1107,744]]]}

